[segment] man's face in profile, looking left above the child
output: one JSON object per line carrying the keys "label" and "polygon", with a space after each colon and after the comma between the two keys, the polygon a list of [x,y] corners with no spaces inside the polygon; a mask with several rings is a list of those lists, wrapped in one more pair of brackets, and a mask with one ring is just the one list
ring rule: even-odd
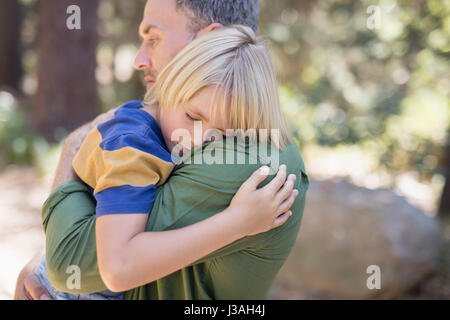
{"label": "man's face in profile, looking left above the child", "polygon": [[134,67],[144,72],[147,90],[159,72],[195,38],[187,25],[188,18],[177,11],[175,0],[147,1],[139,27],[142,45],[134,61]]}

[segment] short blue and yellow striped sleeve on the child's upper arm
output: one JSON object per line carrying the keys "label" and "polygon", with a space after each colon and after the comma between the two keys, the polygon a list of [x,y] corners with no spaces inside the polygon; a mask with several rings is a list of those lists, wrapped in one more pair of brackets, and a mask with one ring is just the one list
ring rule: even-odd
{"label": "short blue and yellow striped sleeve on the child's upper arm", "polygon": [[97,217],[115,213],[149,213],[156,187],[173,163],[149,136],[125,133],[102,140],[93,131],[73,161],[78,176],[94,190]]}

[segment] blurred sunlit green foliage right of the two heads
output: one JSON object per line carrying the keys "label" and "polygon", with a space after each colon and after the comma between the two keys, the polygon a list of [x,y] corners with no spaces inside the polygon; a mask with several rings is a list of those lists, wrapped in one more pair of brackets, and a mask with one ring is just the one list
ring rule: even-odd
{"label": "blurred sunlit green foliage right of the two heads", "polygon": [[[356,144],[390,172],[439,168],[450,124],[450,1],[261,1],[300,144]],[[375,27],[374,10],[379,24]]]}

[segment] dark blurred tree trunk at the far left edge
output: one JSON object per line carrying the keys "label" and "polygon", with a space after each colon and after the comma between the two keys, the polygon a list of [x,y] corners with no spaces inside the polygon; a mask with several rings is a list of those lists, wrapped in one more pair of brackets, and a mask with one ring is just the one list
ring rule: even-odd
{"label": "dark blurred tree trunk at the far left edge", "polygon": [[0,1],[0,90],[19,92],[20,5],[18,0]]}

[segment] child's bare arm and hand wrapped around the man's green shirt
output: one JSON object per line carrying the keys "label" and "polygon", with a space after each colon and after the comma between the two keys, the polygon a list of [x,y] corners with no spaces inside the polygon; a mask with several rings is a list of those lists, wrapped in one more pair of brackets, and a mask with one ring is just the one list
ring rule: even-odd
{"label": "child's bare arm and hand wrapped around the man's green shirt", "polygon": [[[268,169],[266,167],[266,169]],[[146,214],[97,218],[97,254],[103,281],[125,291],[169,275],[242,237],[281,226],[298,191],[286,167],[263,188],[268,170],[257,170],[242,184],[230,206],[201,222],[177,230],[143,232]]]}

